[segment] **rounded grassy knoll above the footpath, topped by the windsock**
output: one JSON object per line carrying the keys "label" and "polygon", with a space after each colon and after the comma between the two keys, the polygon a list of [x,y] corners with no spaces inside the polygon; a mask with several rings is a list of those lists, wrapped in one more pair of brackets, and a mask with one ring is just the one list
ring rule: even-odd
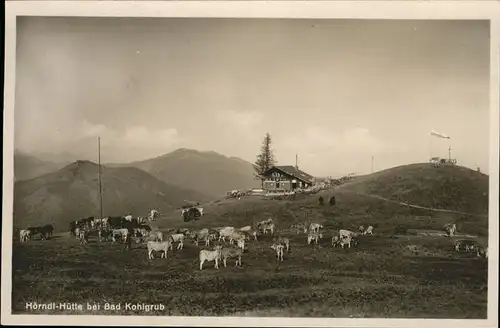
{"label": "rounded grassy knoll above the footpath, topped by the windsock", "polygon": [[488,176],[461,166],[410,164],[358,177],[339,189],[430,208],[488,213]]}

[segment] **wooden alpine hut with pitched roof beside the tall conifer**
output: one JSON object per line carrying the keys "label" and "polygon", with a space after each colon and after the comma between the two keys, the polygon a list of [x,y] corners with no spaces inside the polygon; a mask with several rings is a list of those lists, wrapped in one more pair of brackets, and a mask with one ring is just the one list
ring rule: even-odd
{"label": "wooden alpine hut with pitched roof beside the tall conifer", "polygon": [[291,191],[314,185],[314,177],[292,165],[273,166],[264,174],[265,191]]}

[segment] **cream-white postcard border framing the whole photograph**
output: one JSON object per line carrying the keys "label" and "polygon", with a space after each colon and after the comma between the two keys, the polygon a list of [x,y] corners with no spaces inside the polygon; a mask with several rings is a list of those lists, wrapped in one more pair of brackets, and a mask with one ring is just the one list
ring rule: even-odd
{"label": "cream-white postcard border framing the whole photograph", "polygon": [[[2,324],[289,327],[496,327],[498,322],[498,178],[500,3],[496,1],[7,1],[2,204]],[[12,315],[12,205],[17,16],[233,17],[490,20],[490,185],[488,319],[336,319]]]}

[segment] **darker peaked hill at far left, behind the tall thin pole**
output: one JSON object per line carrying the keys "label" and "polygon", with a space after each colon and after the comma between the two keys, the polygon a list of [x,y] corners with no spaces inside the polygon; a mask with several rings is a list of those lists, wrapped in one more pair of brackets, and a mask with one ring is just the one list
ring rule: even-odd
{"label": "darker peaked hill at far left, behind the tall thin pole", "polygon": [[[103,214],[146,215],[156,208],[171,211],[184,200],[211,199],[196,191],[159,181],[137,168],[102,167]],[[14,185],[14,226],[52,223],[64,230],[80,217],[99,214],[98,166],[77,161],[59,171]]]}

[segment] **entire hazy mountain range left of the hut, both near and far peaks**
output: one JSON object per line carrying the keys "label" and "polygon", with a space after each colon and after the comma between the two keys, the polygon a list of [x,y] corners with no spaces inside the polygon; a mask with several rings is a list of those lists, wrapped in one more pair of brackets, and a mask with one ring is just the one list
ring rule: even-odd
{"label": "entire hazy mountain range left of the hut, both near and far peaks", "polygon": [[[98,165],[70,153],[14,154],[14,224],[98,215]],[[146,215],[185,201],[221,198],[232,189],[258,187],[253,165],[216,152],[178,149],[156,158],[102,166],[104,215]],[[65,226],[64,226],[65,228]]]}

